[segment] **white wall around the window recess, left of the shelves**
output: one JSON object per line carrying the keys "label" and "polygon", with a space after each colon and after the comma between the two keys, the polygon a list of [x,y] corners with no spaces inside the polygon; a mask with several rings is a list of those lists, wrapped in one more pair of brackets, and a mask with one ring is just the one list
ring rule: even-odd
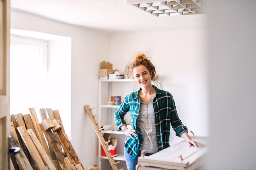
{"label": "white wall around the window recess, left of the shelves", "polygon": [[98,107],[99,65],[108,59],[110,35],[13,10],[11,28],[71,37],[72,144],[85,167],[98,164],[98,139],[84,105]]}

